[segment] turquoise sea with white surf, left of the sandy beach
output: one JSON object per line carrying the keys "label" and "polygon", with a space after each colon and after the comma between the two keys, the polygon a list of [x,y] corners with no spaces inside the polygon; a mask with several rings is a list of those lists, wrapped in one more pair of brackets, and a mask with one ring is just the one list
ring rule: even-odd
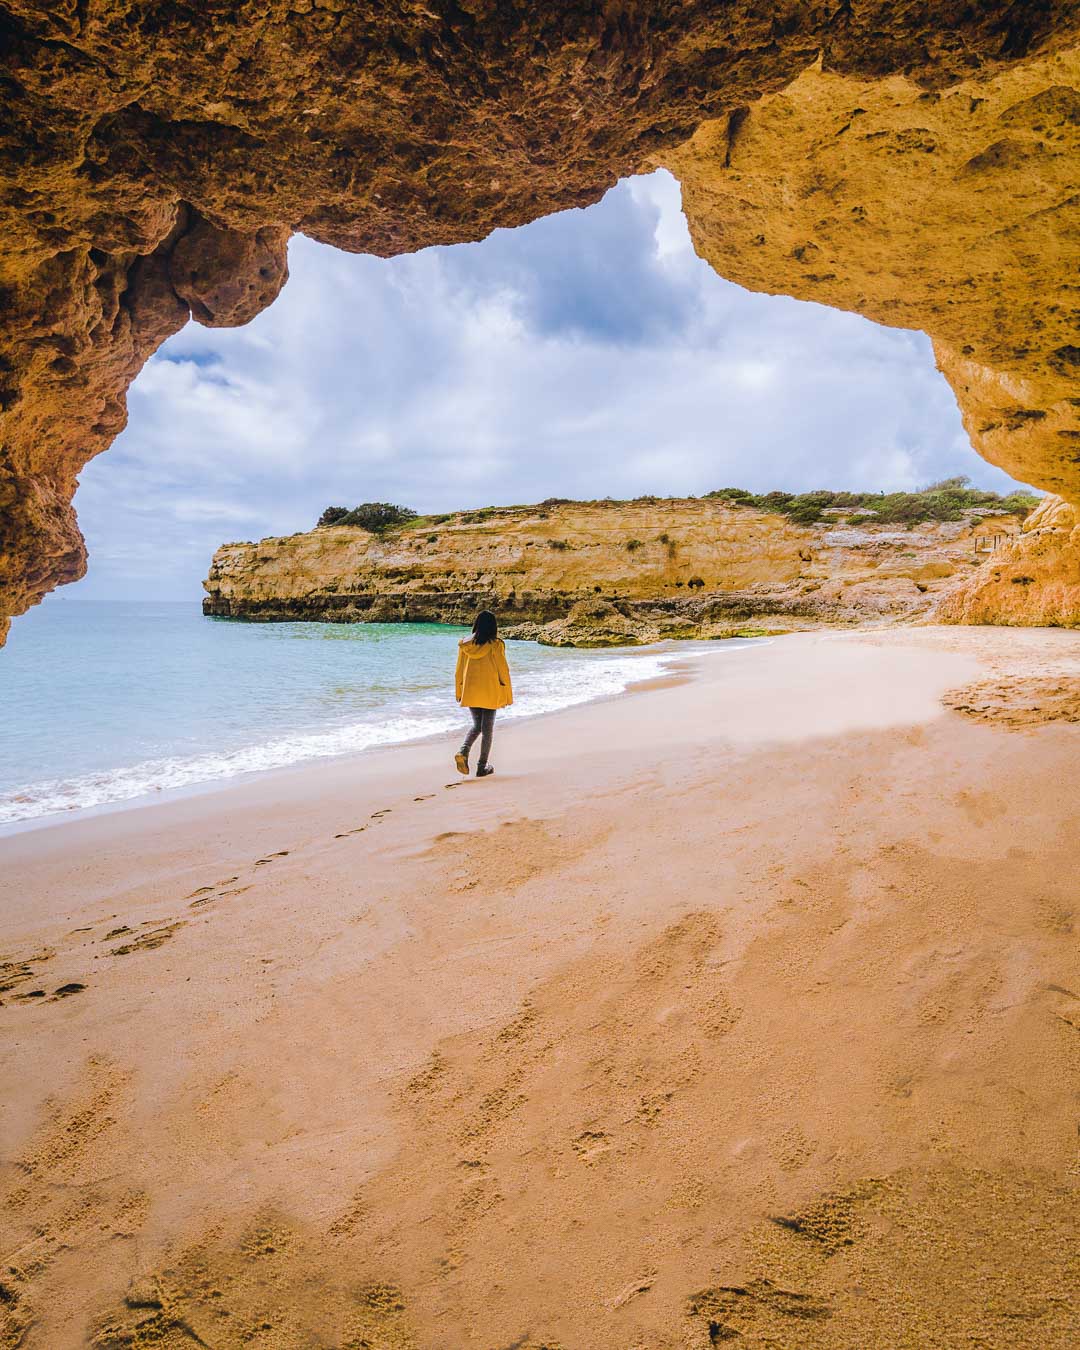
{"label": "turquoise sea with white surf, left of the sandy beach", "polygon": [[[436,624],[239,624],[196,603],[54,598],[0,649],[0,825],[134,802],[463,725]],[[671,649],[512,643],[526,717],[616,694]]]}

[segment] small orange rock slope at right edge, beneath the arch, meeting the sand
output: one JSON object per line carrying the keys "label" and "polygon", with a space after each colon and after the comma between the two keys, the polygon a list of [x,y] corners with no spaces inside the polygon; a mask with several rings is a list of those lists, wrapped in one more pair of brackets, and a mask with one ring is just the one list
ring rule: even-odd
{"label": "small orange rock slope at right edge, beneath the arch, meeting the sand", "polygon": [[1080,514],[1048,497],[987,564],[945,597],[950,624],[1080,628]]}

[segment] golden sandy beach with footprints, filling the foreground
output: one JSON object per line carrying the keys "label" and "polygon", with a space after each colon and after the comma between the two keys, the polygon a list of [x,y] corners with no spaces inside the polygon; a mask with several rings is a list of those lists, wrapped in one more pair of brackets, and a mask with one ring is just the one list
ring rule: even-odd
{"label": "golden sandy beach with footprints, filling the foreground", "polygon": [[0,840],[0,1345],[1073,1343],[1080,634],[683,664]]}

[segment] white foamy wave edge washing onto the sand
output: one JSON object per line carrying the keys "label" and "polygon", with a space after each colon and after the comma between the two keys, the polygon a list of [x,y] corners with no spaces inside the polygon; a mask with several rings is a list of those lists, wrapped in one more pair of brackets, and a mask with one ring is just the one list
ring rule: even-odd
{"label": "white foamy wave edge washing onto the sand", "polygon": [[[761,643],[768,643],[771,640],[772,640],[771,637],[729,639],[728,640],[729,643],[734,643],[734,648],[728,648],[728,649],[737,651],[742,649],[744,647],[757,645]],[[697,647],[699,644],[697,643],[691,644],[690,640],[662,641],[662,643],[655,643],[649,647],[612,649],[612,655],[620,659],[659,657],[664,663],[664,667],[667,668],[670,664],[676,664],[680,660],[687,660],[687,659],[693,660],[694,656],[705,656],[705,652],[694,652],[690,649],[684,649],[690,648],[691,645]],[[724,645],[726,645],[726,643]],[[721,647],[721,644],[717,644],[717,651],[722,649],[724,647]],[[628,694],[633,694],[649,687],[663,687],[667,679],[668,676],[666,674],[645,676],[644,679],[629,682],[621,690],[617,690],[614,693],[601,693],[590,698],[564,703],[559,707],[543,709],[536,713],[522,713],[513,717],[505,717],[501,725],[505,726],[508,721],[514,721],[514,722],[535,721],[536,718],[554,717],[558,716],[559,713],[568,711],[574,707],[586,707],[591,703],[603,703],[609,699],[618,699]],[[290,774],[297,770],[309,768],[316,764],[338,763],[356,757],[367,757],[381,751],[394,751],[409,745],[431,744],[444,740],[446,737],[450,737],[452,734],[455,733],[450,729],[425,732],[421,733],[420,736],[410,736],[400,741],[377,742],[373,745],[360,747],[359,749],[340,751],[328,755],[310,755],[304,759],[298,759],[290,764],[279,764],[271,768],[247,768],[247,770],[240,770],[239,772],[235,774],[223,774],[220,778],[208,778],[186,783],[178,787],[159,788],[154,792],[142,792],[136,796],[120,798],[113,802],[97,802],[90,806],[70,807],[68,810],[53,811],[50,814],[27,817],[20,821],[0,822],[0,848],[3,848],[3,841],[5,838],[23,834],[28,830],[53,829],[66,824],[74,824],[77,821],[96,818],[97,815],[111,815],[117,811],[144,810],[147,807],[165,805],[167,802],[185,799],[193,795],[201,795],[204,792],[227,792],[234,786],[258,780],[267,775]],[[254,748],[255,747],[248,747],[247,749],[250,751]]]}

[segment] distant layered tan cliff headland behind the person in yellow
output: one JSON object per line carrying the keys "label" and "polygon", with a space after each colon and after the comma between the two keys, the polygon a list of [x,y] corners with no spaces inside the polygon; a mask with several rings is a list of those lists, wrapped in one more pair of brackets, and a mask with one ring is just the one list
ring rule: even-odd
{"label": "distant layered tan cliff headland behind the person in yellow", "polygon": [[[926,613],[977,572],[987,556],[977,548],[1018,529],[1004,514],[975,526],[801,526],[709,498],[462,512],[383,537],[339,525],[224,544],[204,612],[460,624],[490,605],[504,624],[544,625],[598,606],[597,621],[580,612],[572,630],[547,634],[582,645],[714,636],[753,618],[895,620]],[[544,634],[526,626],[521,636]]]}

